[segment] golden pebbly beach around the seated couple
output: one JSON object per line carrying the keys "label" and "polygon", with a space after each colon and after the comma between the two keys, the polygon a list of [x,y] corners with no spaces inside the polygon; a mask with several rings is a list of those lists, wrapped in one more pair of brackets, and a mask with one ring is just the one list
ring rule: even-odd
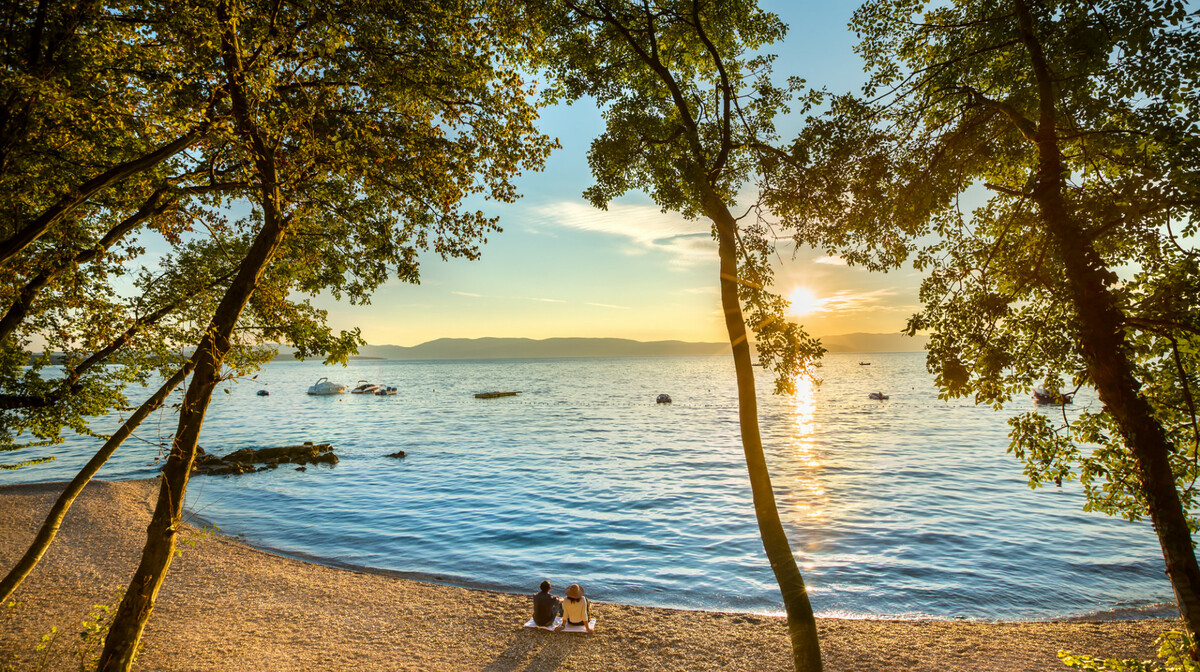
{"label": "golden pebbly beach around the seated couple", "polygon": [[[0,570],[32,540],[61,484],[0,487]],[[120,600],[145,540],[156,480],[94,482],[54,546],[0,608],[0,664],[58,626],[78,638],[92,605]],[[782,618],[596,604],[596,634],[524,629],[529,595],[338,569],[188,527],[144,637],[139,670],[787,671]],[[540,577],[530,577],[533,584]],[[580,577],[587,584],[587,577]],[[560,593],[562,586],[556,586]],[[1166,619],[968,623],[822,619],[832,671],[1066,670],[1056,652],[1148,659]],[[64,646],[61,642],[59,646]],[[66,648],[64,646],[64,648]],[[58,668],[78,664],[64,659]]]}

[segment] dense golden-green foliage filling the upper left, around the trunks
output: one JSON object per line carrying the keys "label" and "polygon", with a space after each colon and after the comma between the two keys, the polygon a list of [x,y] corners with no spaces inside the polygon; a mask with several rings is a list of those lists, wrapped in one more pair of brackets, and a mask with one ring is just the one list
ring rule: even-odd
{"label": "dense golden-green foliage filling the upper left, around the trunks", "polygon": [[[247,95],[281,167],[289,238],[223,374],[253,371],[272,354],[260,346],[278,342],[346,361],[362,343],[358,330],[332,331],[308,296],[367,302],[390,277],[416,282],[421,251],[475,258],[499,230],[464,200],[516,198],[512,178],[540,168],[551,143],[515,67],[523,43],[482,20],[490,11],[482,0],[240,5]],[[0,115],[0,198],[20,205],[0,236],[96,174],[194,137],[0,263],[0,308],[28,304],[0,334],[10,408],[0,451],[88,433],[88,418],[128,406],[128,385],[175,371],[262,220],[253,208],[232,216],[258,193],[253,151],[230,122],[210,4],[18,4],[2,19],[13,71],[0,100],[25,107]],[[47,58],[31,60],[38,40]],[[6,161],[5,148],[20,161]],[[168,252],[145,254],[150,239]],[[25,367],[34,338],[66,354],[61,370],[49,358]]]}

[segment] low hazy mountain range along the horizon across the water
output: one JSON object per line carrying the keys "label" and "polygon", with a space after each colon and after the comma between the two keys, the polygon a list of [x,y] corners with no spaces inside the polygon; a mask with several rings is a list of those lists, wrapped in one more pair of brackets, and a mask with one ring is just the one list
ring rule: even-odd
{"label": "low hazy mountain range along the horizon across the water", "polygon": [[[830,353],[920,352],[928,341],[902,334],[842,334],[822,337]],[[359,359],[535,359],[593,356],[725,355],[728,343],[632,341],[629,338],[438,338],[419,346],[364,346]],[[290,359],[280,348],[281,359]]]}

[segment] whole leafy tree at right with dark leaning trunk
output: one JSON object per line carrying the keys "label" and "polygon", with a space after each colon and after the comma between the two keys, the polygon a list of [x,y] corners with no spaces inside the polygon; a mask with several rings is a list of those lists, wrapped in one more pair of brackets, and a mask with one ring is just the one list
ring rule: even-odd
{"label": "whole leafy tree at right with dark leaning trunk", "polygon": [[1195,641],[1196,16],[874,0],[852,26],[864,97],[835,97],[775,155],[770,206],[871,268],[916,254],[929,277],[908,330],[932,332],[943,395],[1096,389],[1103,408],[1074,421],[1014,418],[1010,450],[1031,485],[1079,478],[1087,509],[1150,517]]}

